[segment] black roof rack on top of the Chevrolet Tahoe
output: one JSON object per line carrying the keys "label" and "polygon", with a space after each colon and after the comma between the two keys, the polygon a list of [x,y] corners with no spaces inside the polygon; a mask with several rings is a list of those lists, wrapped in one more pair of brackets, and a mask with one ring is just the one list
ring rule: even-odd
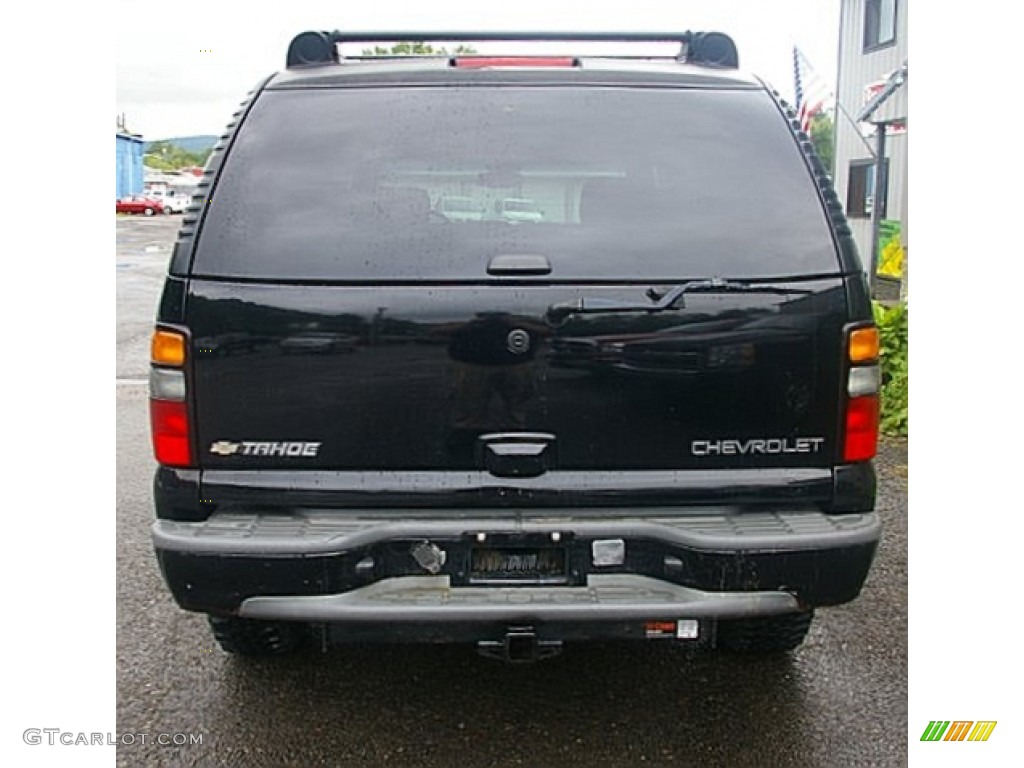
{"label": "black roof rack on top of the Chevrolet Tahoe", "polygon": [[288,68],[338,62],[339,43],[427,42],[627,42],[679,43],[676,58],[688,63],[736,69],[739,54],[732,38],[721,32],[303,32],[288,46]]}

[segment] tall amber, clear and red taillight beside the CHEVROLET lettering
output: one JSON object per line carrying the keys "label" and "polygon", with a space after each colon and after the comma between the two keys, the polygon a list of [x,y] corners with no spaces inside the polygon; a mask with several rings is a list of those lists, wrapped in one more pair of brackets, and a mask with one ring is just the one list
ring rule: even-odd
{"label": "tall amber, clear and red taillight beside the CHEVROLET lettering", "polygon": [[843,460],[867,461],[878,453],[879,445],[879,392],[882,388],[879,330],[873,326],[853,329],[847,337],[846,348],[850,373],[846,382]]}

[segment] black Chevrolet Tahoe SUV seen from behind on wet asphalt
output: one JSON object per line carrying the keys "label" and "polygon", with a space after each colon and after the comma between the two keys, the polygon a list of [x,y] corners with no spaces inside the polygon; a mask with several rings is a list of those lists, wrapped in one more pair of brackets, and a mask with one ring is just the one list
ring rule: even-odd
{"label": "black Chevrolet Tahoe SUV seen from behind on wet asphalt", "polygon": [[304,33],[214,150],[154,336],[154,542],[225,650],[778,651],[859,593],[878,332],[825,170],[727,36],[572,37],[681,51]]}

